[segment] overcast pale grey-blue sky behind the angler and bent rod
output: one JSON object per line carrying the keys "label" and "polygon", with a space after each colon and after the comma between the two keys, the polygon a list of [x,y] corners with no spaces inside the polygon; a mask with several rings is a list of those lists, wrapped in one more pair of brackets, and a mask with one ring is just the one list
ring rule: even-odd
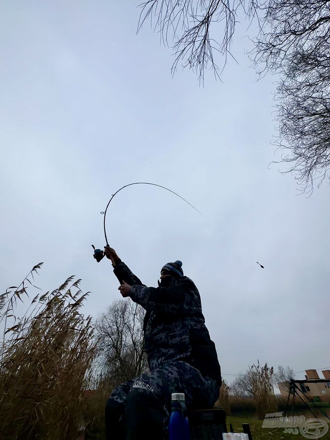
{"label": "overcast pale grey-blue sky behind the angler and bent rod", "polygon": [[[330,188],[296,196],[270,145],[273,77],[256,82],[237,28],[223,84],[171,77],[172,52],[137,3],[2,2],[1,286],[44,261],[37,285],[82,278],[96,316],[120,297],[105,245],[150,286],[180,259],[224,374],[268,362],[330,367]],[[220,62],[220,60],[219,60]],[[282,167],[284,170],[285,168]],[[256,261],[264,265],[261,269]],[[231,381],[234,376],[224,376]],[[304,377],[298,374],[298,378]]]}

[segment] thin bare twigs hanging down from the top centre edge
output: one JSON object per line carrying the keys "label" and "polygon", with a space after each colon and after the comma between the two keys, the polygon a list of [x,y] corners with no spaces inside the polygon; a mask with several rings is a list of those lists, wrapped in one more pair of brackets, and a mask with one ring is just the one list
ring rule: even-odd
{"label": "thin bare twigs hanging down from the top centre edge", "polygon": [[[237,14],[242,11],[249,20],[256,15],[258,0],[147,0],[142,8],[138,31],[143,23],[154,18],[154,28],[160,31],[161,41],[168,44],[173,40],[175,61],[172,73],[179,62],[182,67],[194,70],[201,81],[209,64],[215,75],[220,74],[231,55],[231,39],[235,31]],[[211,37],[212,23],[222,26],[222,40]],[[224,55],[221,69],[216,65],[213,51]]]}

